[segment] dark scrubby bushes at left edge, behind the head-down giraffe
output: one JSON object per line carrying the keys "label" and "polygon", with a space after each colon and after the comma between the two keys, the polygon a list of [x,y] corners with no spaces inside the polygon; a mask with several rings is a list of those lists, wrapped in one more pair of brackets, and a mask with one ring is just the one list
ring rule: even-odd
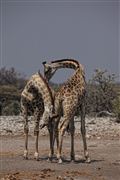
{"label": "dark scrubby bushes at left edge, behind the head-down giraffe", "polygon": [[[20,112],[20,95],[26,84],[24,75],[15,68],[0,69],[0,114],[17,115]],[[3,102],[4,99],[4,102]]]}

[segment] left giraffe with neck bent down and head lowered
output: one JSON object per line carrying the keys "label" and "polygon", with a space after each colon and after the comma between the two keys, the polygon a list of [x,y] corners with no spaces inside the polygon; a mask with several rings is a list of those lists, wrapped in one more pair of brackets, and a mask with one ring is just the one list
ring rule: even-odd
{"label": "left giraffe with neck bent down and head lowered", "polygon": [[28,114],[33,113],[35,119],[34,135],[35,140],[35,154],[36,160],[39,160],[38,153],[38,136],[39,136],[39,122],[42,119],[46,124],[50,134],[50,153],[53,154],[52,148],[52,124],[48,122],[49,118],[54,118],[54,102],[51,89],[48,86],[47,81],[39,73],[32,75],[27,82],[24,90],[21,93],[21,114],[24,117],[24,133],[25,133],[25,150],[24,158],[28,159]]}

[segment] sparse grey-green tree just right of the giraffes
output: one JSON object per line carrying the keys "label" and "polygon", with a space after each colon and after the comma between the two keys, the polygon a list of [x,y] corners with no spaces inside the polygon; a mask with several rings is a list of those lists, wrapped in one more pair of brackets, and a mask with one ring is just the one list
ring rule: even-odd
{"label": "sparse grey-green tree just right of the giraffes", "polygon": [[113,111],[113,100],[117,97],[115,75],[96,69],[87,85],[87,113]]}

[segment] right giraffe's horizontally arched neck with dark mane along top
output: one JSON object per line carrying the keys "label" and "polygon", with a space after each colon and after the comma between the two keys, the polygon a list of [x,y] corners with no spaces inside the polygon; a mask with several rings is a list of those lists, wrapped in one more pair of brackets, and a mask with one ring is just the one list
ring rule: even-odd
{"label": "right giraffe's horizontally arched neck with dark mane along top", "polygon": [[80,64],[73,59],[61,59],[57,61],[52,61],[52,66],[55,67],[56,69],[60,68],[71,68],[71,69],[77,69],[79,68]]}

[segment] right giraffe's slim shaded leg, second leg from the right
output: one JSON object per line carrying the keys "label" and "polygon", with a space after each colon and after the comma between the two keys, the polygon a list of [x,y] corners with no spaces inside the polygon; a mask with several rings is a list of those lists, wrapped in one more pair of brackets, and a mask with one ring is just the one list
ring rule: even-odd
{"label": "right giraffe's slim shaded leg, second leg from the right", "polygon": [[74,133],[75,133],[75,127],[74,127],[74,119],[70,123],[70,134],[71,134],[71,161],[75,160],[75,152],[74,152]]}

